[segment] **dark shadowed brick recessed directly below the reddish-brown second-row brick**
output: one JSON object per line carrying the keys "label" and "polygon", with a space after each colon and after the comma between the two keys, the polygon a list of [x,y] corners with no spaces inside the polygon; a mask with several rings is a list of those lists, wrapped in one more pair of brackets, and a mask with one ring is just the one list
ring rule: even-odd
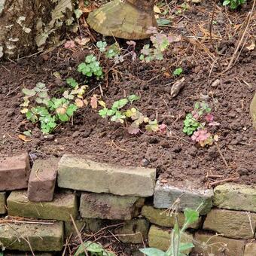
{"label": "dark shadowed brick recessed directly below the reddish-brown second-row brick", "polygon": [[126,221],[114,233],[121,242],[143,243],[148,238],[149,222],[143,218]]}

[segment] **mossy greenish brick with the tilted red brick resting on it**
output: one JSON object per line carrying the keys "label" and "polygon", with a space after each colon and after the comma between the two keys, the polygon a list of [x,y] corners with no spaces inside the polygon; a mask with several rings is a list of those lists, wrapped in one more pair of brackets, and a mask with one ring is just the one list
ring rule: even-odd
{"label": "mossy greenish brick with the tilted red brick resting on it", "polygon": [[56,193],[52,202],[43,203],[29,201],[26,190],[13,191],[7,203],[8,215],[12,216],[70,221],[70,215],[78,215],[77,199],[70,191]]}

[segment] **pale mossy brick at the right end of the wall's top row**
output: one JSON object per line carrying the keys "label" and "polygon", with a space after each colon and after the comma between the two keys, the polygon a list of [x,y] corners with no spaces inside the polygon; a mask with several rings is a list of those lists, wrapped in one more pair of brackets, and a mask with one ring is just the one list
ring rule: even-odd
{"label": "pale mossy brick at the right end of the wall's top row", "polygon": [[231,183],[217,186],[213,204],[218,208],[256,212],[256,187]]}

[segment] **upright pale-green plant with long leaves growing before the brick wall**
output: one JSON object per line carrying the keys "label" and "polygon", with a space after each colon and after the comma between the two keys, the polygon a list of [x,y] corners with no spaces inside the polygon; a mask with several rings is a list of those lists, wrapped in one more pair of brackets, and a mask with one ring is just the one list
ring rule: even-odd
{"label": "upright pale-green plant with long leaves growing before the brick wall", "polygon": [[158,248],[142,248],[140,251],[148,256],[185,256],[186,251],[194,247],[194,244],[191,242],[182,243],[181,236],[184,235],[184,231],[190,224],[198,221],[199,212],[192,209],[184,210],[185,221],[183,227],[178,225],[178,214],[174,213],[175,225],[171,233],[171,244],[167,251],[162,251]]}

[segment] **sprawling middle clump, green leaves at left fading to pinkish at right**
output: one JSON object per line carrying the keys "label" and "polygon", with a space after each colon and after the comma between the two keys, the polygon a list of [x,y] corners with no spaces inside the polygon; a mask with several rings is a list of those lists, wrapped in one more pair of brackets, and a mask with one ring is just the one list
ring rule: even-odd
{"label": "sprawling middle clump, green leaves at left fading to pinkish at right", "polygon": [[111,121],[116,123],[125,123],[128,133],[137,134],[141,131],[142,124],[145,124],[145,130],[148,132],[164,132],[166,126],[157,123],[157,120],[149,120],[147,116],[142,114],[137,108],[130,107],[123,109],[126,105],[132,104],[138,100],[139,96],[132,94],[126,98],[119,99],[114,102],[111,108],[107,108],[105,102],[99,101],[102,109],[99,110],[99,115],[102,118],[110,118]]}

